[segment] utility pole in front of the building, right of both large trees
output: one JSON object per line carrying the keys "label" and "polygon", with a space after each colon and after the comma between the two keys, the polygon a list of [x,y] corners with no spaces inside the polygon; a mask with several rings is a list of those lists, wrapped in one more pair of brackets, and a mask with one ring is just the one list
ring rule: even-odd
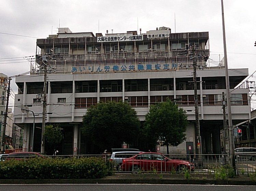
{"label": "utility pole in front of the building, right of both large trees", "polygon": [[199,127],[199,115],[198,115],[198,99],[197,99],[197,56],[196,56],[196,48],[195,46],[192,46],[192,59],[193,59],[193,82],[194,82],[194,102],[195,102],[195,118],[196,118],[196,134],[197,134],[197,154],[199,154],[198,157],[201,158],[202,154],[202,145],[201,145],[201,135],[200,135],[200,127]]}

